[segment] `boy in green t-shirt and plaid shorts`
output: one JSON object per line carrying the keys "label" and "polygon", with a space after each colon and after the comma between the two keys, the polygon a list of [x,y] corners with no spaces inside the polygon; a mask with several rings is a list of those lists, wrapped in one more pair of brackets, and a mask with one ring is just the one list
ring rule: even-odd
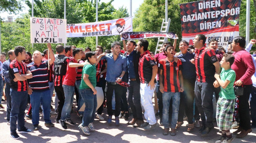
{"label": "boy in green t-shirt and plaid shorts", "polygon": [[215,78],[221,86],[220,98],[217,102],[217,124],[222,132],[221,138],[216,143],[231,142],[234,137],[230,133],[232,129],[233,112],[235,106],[235,93],[234,93],[234,81],[236,79],[236,73],[231,69],[231,65],[234,63],[235,57],[231,54],[223,54],[223,58],[220,62],[222,67],[220,75],[215,73]]}

